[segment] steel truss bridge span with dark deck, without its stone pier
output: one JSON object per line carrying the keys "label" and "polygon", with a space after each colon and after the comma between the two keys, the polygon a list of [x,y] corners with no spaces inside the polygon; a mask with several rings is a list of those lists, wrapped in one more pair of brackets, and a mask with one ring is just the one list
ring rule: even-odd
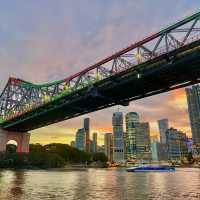
{"label": "steel truss bridge span with dark deck, without its stone pier", "polygon": [[64,80],[10,77],[0,95],[0,126],[27,132],[200,81],[200,12]]}

